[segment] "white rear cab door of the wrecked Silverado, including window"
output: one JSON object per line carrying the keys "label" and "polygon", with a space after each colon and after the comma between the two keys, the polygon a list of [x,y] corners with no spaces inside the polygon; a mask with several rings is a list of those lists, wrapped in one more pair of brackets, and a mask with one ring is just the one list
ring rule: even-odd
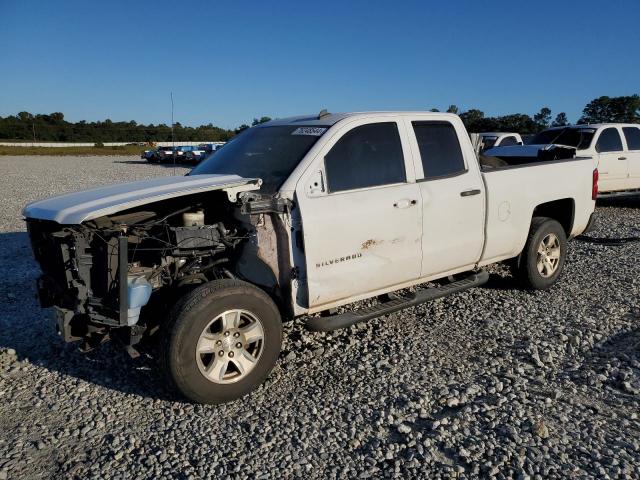
{"label": "white rear cab door of the wrecked Silverado, including window", "polygon": [[485,189],[461,124],[407,117],[422,201],[422,277],[472,268],[484,243]]}

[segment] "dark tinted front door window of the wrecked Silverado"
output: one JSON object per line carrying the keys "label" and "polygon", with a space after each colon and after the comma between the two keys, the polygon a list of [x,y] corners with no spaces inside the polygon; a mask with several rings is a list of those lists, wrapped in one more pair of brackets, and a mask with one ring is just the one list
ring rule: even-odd
{"label": "dark tinted front door window of the wrecked Silverado", "polygon": [[395,122],[362,125],[344,134],[324,157],[329,192],[405,182]]}

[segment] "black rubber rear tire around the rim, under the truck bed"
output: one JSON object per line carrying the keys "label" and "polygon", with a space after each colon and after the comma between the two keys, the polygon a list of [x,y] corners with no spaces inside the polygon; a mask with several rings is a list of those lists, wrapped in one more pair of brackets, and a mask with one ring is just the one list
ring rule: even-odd
{"label": "black rubber rear tire around the rim, under the truck bed", "polygon": [[[553,273],[541,273],[538,269],[538,249],[541,243],[549,235],[554,235],[559,244],[560,255]],[[567,235],[562,225],[556,220],[547,217],[533,217],[529,235],[524,249],[512,263],[513,272],[518,280],[526,287],[533,290],[546,290],[556,283],[567,255]],[[545,275],[547,273],[547,275]]]}

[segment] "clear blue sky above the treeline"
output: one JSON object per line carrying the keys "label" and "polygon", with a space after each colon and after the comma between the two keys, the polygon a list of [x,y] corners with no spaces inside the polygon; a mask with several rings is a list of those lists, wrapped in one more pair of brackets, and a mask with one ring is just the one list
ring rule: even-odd
{"label": "clear blue sky above the treeline", "polygon": [[640,93],[640,1],[0,0],[0,115],[235,127]]}

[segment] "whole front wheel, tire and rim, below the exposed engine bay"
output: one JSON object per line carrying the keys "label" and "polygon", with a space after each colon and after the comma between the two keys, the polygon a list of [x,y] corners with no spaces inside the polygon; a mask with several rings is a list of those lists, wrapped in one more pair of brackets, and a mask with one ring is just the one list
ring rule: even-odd
{"label": "whole front wheel, tire and rim, below the exposed engine bay", "polygon": [[176,305],[163,338],[163,368],[173,385],[195,402],[223,403],[266,379],[280,353],[282,323],[265,292],[218,280]]}

